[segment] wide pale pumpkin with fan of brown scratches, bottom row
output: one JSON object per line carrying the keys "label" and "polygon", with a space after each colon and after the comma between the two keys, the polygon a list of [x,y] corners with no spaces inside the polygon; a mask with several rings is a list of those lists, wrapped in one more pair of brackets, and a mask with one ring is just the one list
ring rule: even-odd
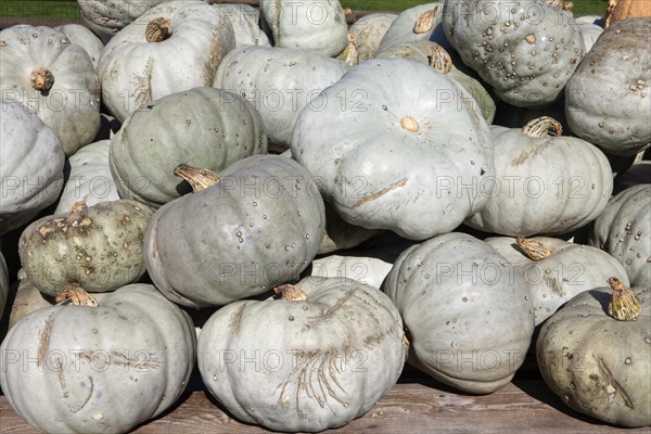
{"label": "wide pale pumpkin with fan of brown scratches, bottom row", "polygon": [[381,291],[349,279],[306,278],[295,288],[294,301],[217,310],[199,339],[199,370],[245,422],[282,432],[343,426],[395,385],[408,348],[403,320]]}

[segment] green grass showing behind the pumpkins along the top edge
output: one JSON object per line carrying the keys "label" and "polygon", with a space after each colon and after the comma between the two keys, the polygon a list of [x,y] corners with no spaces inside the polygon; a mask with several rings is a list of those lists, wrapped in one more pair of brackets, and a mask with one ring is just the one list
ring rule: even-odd
{"label": "green grass showing behind the pumpkins along the top edge", "polygon": [[[366,11],[401,11],[422,0],[341,0],[344,8]],[[574,0],[576,14],[603,15],[608,0]],[[0,0],[0,16],[42,20],[78,21],[79,7],[76,1],[64,0]]]}

